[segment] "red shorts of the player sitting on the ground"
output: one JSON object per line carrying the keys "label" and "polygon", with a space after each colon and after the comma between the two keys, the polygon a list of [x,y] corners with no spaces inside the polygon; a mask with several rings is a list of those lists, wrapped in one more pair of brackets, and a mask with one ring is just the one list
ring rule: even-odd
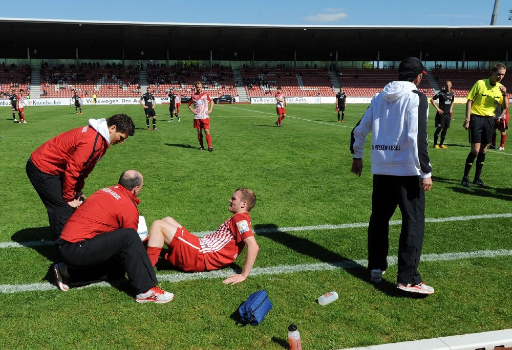
{"label": "red shorts of the player sitting on the ground", "polygon": [[186,272],[206,271],[204,255],[199,244],[199,237],[191,234],[182,227],[176,231],[170,242],[165,259],[173,266]]}

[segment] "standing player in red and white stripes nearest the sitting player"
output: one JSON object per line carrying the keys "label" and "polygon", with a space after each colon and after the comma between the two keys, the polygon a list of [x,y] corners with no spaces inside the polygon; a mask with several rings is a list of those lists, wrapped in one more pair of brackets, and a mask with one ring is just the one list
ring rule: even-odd
{"label": "standing player in red and white stripes nearest the sitting player", "polygon": [[[204,129],[206,142],[208,143],[208,151],[214,151],[211,146],[210,136],[210,113],[214,109],[214,101],[210,98],[207,92],[203,91],[203,84],[197,81],[195,84],[196,92],[190,96],[188,101],[188,109],[194,113],[194,128],[197,129],[197,139],[199,140],[199,149],[204,150],[203,133]],[[210,107],[208,108],[208,103]],[[194,104],[194,107],[192,105]]]}

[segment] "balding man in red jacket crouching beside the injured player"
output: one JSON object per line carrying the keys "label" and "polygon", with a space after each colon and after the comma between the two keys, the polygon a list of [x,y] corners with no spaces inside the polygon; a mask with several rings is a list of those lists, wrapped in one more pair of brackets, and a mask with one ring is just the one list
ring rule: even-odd
{"label": "balding man in red jacket crouching beside the injured player", "polygon": [[71,215],[55,241],[63,261],[53,266],[60,290],[118,279],[126,272],[137,302],[173,300],[173,293],[156,287],[155,270],[137,234],[143,185],[140,172],[126,170],[117,185],[94,192]]}

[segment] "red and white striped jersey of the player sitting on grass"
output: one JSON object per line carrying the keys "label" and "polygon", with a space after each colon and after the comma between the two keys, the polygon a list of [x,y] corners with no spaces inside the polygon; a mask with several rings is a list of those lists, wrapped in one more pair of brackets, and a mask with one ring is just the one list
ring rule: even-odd
{"label": "red and white striped jersey of the player sitting on grass", "polygon": [[245,247],[243,240],[254,236],[249,213],[234,214],[214,232],[199,240],[207,270],[231,264]]}

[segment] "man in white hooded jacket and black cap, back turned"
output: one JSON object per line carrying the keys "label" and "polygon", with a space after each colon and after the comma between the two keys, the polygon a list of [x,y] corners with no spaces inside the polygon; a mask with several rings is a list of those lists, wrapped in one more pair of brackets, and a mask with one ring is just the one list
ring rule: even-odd
{"label": "man in white hooded jacket and black cap, back turned", "polygon": [[379,282],[388,267],[389,220],[396,207],[402,213],[398,244],[397,288],[432,294],[423,283],[418,265],[425,226],[424,191],[432,187],[426,121],[429,102],[417,90],[426,68],[416,57],[400,62],[398,81],[375,95],[364,116],[352,130],[351,171],[362,173],[367,135],[372,133],[372,214],[368,227],[370,279]]}

